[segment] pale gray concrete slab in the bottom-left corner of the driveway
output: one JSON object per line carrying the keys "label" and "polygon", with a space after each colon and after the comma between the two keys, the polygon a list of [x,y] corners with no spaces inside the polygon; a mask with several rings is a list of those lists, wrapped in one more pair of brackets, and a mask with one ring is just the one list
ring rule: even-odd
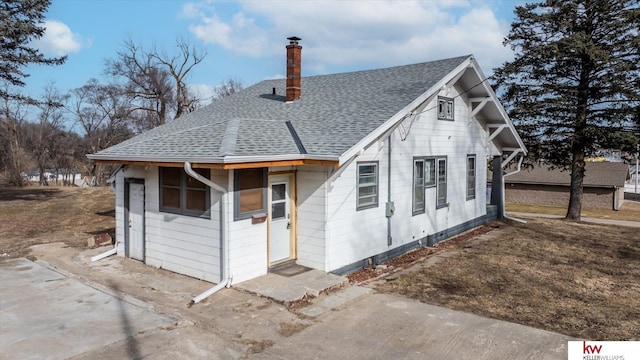
{"label": "pale gray concrete slab in the bottom-left corner of the driveway", "polygon": [[176,319],[149,304],[27,259],[0,262],[0,358],[66,359]]}

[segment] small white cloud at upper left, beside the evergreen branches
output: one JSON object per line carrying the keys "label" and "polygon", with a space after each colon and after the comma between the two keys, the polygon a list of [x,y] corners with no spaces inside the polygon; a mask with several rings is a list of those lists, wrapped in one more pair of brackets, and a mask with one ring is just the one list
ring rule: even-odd
{"label": "small white cloud at upper left, beside the evergreen branches", "polygon": [[91,41],[84,39],[63,22],[46,20],[43,27],[44,35],[33,42],[45,55],[62,56],[80,51],[83,47],[91,46]]}

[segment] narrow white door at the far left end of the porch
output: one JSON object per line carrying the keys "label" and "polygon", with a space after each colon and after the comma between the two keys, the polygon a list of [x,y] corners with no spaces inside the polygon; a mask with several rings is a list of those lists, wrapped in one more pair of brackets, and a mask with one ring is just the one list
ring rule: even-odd
{"label": "narrow white door at the far left end of the porch", "polygon": [[129,185],[128,256],[144,261],[144,184]]}

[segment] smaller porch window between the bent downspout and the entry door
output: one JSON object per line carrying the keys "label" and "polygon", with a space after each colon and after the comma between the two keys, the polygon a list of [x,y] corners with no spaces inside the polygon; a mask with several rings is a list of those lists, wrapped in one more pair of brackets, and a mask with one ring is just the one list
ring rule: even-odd
{"label": "smaller porch window between the bent downspout and the entry door", "polygon": [[234,220],[267,212],[267,171],[265,168],[235,170],[233,177]]}

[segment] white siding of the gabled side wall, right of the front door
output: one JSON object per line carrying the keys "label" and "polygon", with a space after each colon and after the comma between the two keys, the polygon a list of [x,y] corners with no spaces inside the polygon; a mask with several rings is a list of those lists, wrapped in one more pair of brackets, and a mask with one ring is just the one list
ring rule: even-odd
{"label": "white siding of the gabled side wall, right of the front door", "polygon": [[[444,94],[443,94],[444,95]],[[447,97],[458,95],[455,88]],[[327,219],[327,271],[383,253],[394,247],[417,241],[486,213],[486,132],[475,120],[469,120],[469,106],[464,96],[455,98],[455,121],[437,120],[436,101],[413,122],[408,137],[402,141],[393,132],[391,152],[391,201],[395,205],[391,235],[387,245],[387,150],[388,140],[372,144],[329,180]],[[404,127],[408,128],[409,119]],[[476,155],[476,197],[466,199],[466,159]],[[436,188],[425,191],[425,213],[412,214],[413,158],[447,157],[448,207],[436,209]],[[356,211],[356,171],[362,161],[379,162],[379,205]]]}

